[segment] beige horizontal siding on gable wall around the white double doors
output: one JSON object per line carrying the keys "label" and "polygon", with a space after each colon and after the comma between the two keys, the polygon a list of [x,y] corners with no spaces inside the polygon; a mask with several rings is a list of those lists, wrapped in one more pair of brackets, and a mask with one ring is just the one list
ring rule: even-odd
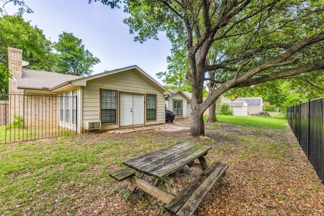
{"label": "beige horizontal siding on gable wall around the white double doors", "polygon": [[[116,124],[103,124],[101,129],[113,129],[119,127],[119,94],[153,94],[156,95],[156,120],[146,121],[146,110],[144,111],[144,124],[165,123],[165,96],[152,84],[143,79],[132,70],[114,74],[108,78],[94,79],[87,82],[83,89],[83,120],[100,119],[100,90],[117,92],[117,116]],[[144,97],[146,100],[146,97]],[[146,108],[146,106],[144,106]],[[137,125],[138,126],[138,125]]]}

